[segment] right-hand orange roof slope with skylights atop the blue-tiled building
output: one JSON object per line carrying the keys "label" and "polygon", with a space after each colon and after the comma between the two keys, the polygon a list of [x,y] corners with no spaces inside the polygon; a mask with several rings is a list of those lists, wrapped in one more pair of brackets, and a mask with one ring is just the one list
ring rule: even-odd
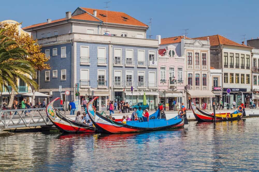
{"label": "right-hand orange roof slope with skylights atop the blue-tiled building", "polygon": [[[134,25],[134,26],[145,26],[148,27],[146,24],[140,22],[139,20],[129,16],[128,14],[125,14],[123,12],[116,12],[116,11],[107,11],[107,17],[102,16],[100,14],[106,15],[106,10],[99,10],[99,9],[92,9],[92,8],[84,8],[80,7],[81,9],[89,12],[90,14],[93,14],[93,10],[97,11],[96,17],[103,22],[107,23],[118,23],[118,24],[128,24],[128,25]],[[126,18],[123,18],[126,17]]]}

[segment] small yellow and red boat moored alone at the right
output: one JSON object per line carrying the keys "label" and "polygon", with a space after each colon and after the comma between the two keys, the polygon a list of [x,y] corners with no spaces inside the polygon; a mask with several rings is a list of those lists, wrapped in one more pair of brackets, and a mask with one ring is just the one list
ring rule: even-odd
{"label": "small yellow and red boat moored alone at the right", "polygon": [[[191,103],[191,108],[193,111],[193,115],[195,116],[197,121],[199,121],[199,122],[214,121],[213,113],[208,113],[208,112],[198,108],[194,103]],[[244,114],[243,108],[240,108],[232,113],[216,113],[216,120],[217,121],[239,120],[243,117],[243,114]]]}

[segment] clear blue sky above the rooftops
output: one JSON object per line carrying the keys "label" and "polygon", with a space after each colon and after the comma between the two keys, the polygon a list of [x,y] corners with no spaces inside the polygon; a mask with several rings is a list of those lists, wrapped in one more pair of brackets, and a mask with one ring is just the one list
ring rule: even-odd
{"label": "clear blue sky above the rooftops", "polygon": [[[105,9],[105,1],[3,1],[0,21],[16,20],[25,27],[48,18],[64,18],[66,11],[73,12],[78,6]],[[259,1],[107,1],[111,1],[109,10],[125,12],[143,23],[153,18],[152,38],[183,35],[185,31],[181,29],[189,29],[188,37],[219,34],[238,43],[244,34],[247,39],[259,37]]]}

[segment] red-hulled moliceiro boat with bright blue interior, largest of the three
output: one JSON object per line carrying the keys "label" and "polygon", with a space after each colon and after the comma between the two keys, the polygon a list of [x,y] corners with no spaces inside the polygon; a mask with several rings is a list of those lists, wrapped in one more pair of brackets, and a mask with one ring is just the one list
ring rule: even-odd
{"label": "red-hulled moliceiro boat with bright blue interior, largest of the three", "polygon": [[92,103],[98,97],[95,97],[87,105],[87,111],[93,125],[97,128],[100,133],[132,133],[132,132],[144,132],[154,131],[169,128],[178,128],[184,126],[183,113],[177,115],[174,118],[166,119],[163,107],[160,107],[155,113],[144,119],[144,122],[139,121],[127,121],[125,123],[116,122],[109,119],[107,116],[103,116],[99,112],[95,111]]}

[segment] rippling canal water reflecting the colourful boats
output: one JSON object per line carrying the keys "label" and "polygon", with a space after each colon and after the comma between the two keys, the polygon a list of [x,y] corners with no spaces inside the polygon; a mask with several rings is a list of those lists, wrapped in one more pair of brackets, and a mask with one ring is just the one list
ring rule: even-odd
{"label": "rippling canal water reflecting the colourful boats", "polygon": [[259,171],[259,118],[182,129],[0,137],[0,171]]}

